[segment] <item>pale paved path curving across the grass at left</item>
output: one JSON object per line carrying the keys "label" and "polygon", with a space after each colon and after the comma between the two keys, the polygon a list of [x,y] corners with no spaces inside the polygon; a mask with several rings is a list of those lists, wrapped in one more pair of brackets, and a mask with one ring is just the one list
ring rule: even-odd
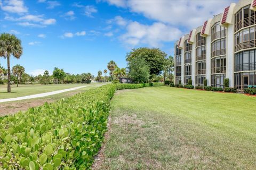
{"label": "pale paved path curving across the grass at left", "polygon": [[67,92],[67,91],[71,91],[71,90],[81,89],[81,88],[84,88],[84,87],[88,87],[88,86],[79,86],[79,87],[74,87],[74,88],[70,88],[70,89],[57,90],[57,91],[51,91],[51,92],[44,92],[43,94],[22,96],[22,97],[16,97],[16,98],[0,99],[0,103],[7,102],[7,101],[34,99],[34,98],[38,98],[38,97],[45,97],[45,96],[50,96],[50,95],[56,95],[56,94],[60,94],[62,92]]}

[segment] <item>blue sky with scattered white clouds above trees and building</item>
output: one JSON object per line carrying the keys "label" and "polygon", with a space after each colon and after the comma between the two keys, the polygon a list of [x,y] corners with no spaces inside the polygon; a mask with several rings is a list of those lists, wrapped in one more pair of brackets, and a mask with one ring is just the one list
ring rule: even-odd
{"label": "blue sky with scattered white clouds above trees and building", "polygon": [[[231,0],[0,0],[0,33],[15,34],[23,55],[11,66],[29,74],[59,67],[69,73],[104,70],[110,60],[126,67],[131,48],[158,47],[173,55],[173,44]],[[6,67],[6,60],[0,58]]]}

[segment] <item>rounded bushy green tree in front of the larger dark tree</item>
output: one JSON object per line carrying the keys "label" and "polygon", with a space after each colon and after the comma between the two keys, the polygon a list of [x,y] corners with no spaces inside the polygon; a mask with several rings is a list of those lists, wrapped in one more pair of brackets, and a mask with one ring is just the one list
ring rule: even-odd
{"label": "rounded bushy green tree in front of the larger dark tree", "polygon": [[142,57],[134,57],[128,63],[128,77],[135,83],[148,82],[150,71],[149,66]]}

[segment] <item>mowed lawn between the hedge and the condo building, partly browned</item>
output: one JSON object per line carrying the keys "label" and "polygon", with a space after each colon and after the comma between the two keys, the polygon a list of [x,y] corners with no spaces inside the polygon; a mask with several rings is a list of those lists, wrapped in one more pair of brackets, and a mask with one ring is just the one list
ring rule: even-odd
{"label": "mowed lawn between the hedge and the condo building, partly browned", "polygon": [[256,168],[256,97],[162,86],[111,107],[99,169]]}

